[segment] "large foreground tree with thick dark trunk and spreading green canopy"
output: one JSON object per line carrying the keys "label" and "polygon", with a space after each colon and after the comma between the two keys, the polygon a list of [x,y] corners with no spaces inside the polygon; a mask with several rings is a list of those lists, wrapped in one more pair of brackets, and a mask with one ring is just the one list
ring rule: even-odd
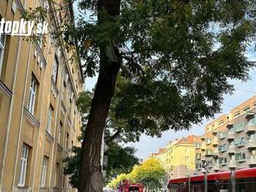
{"label": "large foreground tree with thick dark trunk and spreading green canopy", "polygon": [[[66,1],[71,8],[74,1]],[[189,129],[220,111],[223,94],[234,89],[230,79],[247,80],[254,63],[244,52],[254,41],[256,5],[254,0],[77,2],[76,25],[63,27],[64,39],[78,46],[86,77],[99,73],[82,142],[79,190],[99,192],[100,146],[118,75],[124,83],[116,93],[115,116],[125,119],[126,128],[147,135]]]}

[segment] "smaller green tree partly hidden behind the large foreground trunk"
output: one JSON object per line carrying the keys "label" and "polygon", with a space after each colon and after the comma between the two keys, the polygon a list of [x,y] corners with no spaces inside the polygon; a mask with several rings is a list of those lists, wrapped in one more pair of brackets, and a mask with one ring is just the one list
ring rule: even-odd
{"label": "smaller green tree partly hidden behind the large foreground trunk", "polygon": [[[92,92],[86,91],[79,94],[76,105],[78,110],[83,116],[83,126],[81,128],[82,135],[79,138],[83,138],[86,122],[88,121],[88,111],[90,109],[92,101]],[[114,99],[115,101],[115,99]],[[112,102],[114,105],[115,102]],[[106,156],[109,157],[109,165],[107,166],[107,177],[110,179],[113,175],[120,173],[129,173],[133,166],[139,164],[139,159],[135,156],[136,149],[130,146],[120,146],[119,141],[133,141],[133,137],[126,137],[125,135],[131,135],[132,133],[122,134],[118,130],[125,125],[125,123],[119,122],[109,112],[109,123],[106,125],[105,140],[108,143],[109,149],[106,151]],[[116,131],[117,130],[117,131]],[[111,132],[115,132],[111,134]],[[78,188],[80,182],[80,170],[81,170],[81,147],[73,147],[72,153],[74,156],[68,156],[63,160],[64,162],[64,174],[70,178],[70,183],[74,188]]]}

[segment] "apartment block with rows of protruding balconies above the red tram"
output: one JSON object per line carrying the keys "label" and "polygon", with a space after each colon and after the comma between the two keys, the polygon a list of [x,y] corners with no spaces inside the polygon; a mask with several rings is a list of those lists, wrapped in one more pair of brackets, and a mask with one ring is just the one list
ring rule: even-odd
{"label": "apartment block with rows of protruding balconies above the red tram", "polygon": [[235,170],[256,166],[256,96],[233,108],[227,115],[206,125],[206,133],[195,143],[196,173],[202,169],[202,159],[211,160],[209,172]]}

